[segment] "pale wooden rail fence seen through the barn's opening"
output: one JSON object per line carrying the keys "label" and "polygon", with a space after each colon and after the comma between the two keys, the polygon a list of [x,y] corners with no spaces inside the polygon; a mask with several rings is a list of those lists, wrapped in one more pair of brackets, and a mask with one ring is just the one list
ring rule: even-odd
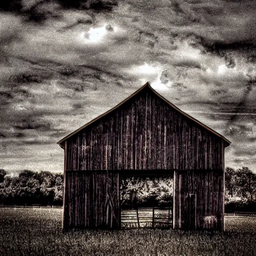
{"label": "pale wooden rail fence seen through the barn's opening", "polygon": [[124,229],[170,228],[172,227],[172,207],[122,209],[121,227]]}

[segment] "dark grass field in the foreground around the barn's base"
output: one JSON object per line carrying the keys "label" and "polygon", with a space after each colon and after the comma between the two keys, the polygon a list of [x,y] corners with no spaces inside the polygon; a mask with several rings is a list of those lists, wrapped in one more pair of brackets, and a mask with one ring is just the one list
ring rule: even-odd
{"label": "dark grass field in the foreground around the barn's base", "polygon": [[61,232],[61,209],[0,208],[0,255],[256,255],[256,217],[224,232],[133,229]]}

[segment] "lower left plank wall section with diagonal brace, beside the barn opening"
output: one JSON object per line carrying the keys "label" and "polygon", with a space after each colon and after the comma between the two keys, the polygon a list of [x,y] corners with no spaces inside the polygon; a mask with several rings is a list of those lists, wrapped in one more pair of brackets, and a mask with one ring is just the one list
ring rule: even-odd
{"label": "lower left plank wall section with diagonal brace, beside the barn opening", "polygon": [[120,227],[119,174],[66,171],[63,228]]}

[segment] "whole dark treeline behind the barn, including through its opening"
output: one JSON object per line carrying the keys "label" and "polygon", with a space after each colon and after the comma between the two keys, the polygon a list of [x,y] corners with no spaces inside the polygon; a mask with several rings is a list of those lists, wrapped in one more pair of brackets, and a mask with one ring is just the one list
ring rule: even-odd
{"label": "whole dark treeline behind the barn, including through its opening", "polygon": [[[226,212],[256,211],[256,173],[248,167],[226,167],[225,189]],[[62,173],[23,170],[18,176],[10,176],[0,169],[0,204],[62,205],[62,193]],[[171,206],[173,179],[121,179],[120,200],[122,208]]]}

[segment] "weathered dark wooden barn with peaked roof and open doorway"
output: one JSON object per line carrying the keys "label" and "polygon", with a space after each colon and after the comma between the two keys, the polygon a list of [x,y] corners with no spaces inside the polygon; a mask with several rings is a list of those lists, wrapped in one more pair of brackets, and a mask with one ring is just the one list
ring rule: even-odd
{"label": "weathered dark wooden barn with peaked roof and open doorway", "polygon": [[147,82],[58,141],[63,228],[120,228],[121,175],[174,176],[173,228],[224,229],[224,148],[230,142]]}

